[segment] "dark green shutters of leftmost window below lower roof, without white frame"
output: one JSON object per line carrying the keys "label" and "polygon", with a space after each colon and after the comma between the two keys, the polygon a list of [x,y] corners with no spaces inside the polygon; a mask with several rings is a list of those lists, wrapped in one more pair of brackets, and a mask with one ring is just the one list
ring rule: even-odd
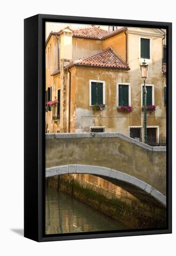
{"label": "dark green shutters of leftmost window below lower roof, without white frame", "polygon": [[91,82],[91,105],[103,104],[103,83]]}

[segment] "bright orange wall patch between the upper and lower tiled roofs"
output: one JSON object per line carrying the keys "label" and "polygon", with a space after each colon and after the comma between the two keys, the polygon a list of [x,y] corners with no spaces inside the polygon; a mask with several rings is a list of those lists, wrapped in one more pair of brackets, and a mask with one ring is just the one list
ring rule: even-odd
{"label": "bright orange wall patch between the upper and lower tiled roofs", "polygon": [[126,61],[126,36],[124,32],[103,41],[103,49],[109,46]]}

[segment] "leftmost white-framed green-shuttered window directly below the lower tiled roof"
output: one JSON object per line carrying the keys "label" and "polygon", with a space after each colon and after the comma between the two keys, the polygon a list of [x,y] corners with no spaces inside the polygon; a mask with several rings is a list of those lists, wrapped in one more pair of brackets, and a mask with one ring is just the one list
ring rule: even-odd
{"label": "leftmost white-framed green-shuttered window directly below the lower tiled roof", "polygon": [[105,82],[90,80],[90,106],[105,104]]}

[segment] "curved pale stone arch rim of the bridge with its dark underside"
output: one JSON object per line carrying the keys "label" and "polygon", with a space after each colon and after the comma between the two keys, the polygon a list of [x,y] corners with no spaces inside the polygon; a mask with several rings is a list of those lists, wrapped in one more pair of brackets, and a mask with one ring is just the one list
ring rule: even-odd
{"label": "curved pale stone arch rim of the bridge with its dark underside", "polygon": [[150,204],[152,203],[158,207],[166,207],[165,195],[150,186],[150,184],[118,170],[83,164],[68,164],[46,168],[46,178],[64,174],[96,175],[127,190],[142,202],[150,202]]}

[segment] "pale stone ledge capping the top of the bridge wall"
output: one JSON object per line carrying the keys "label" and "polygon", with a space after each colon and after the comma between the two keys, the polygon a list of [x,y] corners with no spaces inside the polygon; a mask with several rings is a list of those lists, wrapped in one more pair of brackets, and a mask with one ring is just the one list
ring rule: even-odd
{"label": "pale stone ledge capping the top of the bridge wall", "polygon": [[166,147],[151,147],[144,144],[141,141],[137,141],[133,138],[125,136],[120,133],[57,133],[46,134],[46,140],[48,139],[78,139],[78,138],[121,138],[130,143],[136,144],[141,148],[148,149],[150,151],[166,151]]}

